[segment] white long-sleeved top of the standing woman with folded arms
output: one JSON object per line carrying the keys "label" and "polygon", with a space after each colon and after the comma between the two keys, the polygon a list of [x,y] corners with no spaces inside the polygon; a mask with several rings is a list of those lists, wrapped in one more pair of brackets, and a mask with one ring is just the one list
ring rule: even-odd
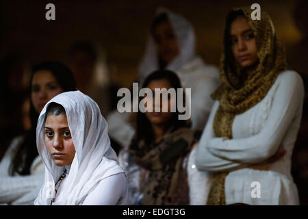
{"label": "white long-sleeved top of the standing woman with folded arms", "polygon": [[[196,147],[196,159],[190,164],[195,163],[198,170],[207,171],[205,182],[211,178],[211,172],[230,171],[224,182],[227,205],[298,205],[291,157],[300,126],[303,97],[301,77],[294,71],[285,70],[262,101],[235,116],[233,139],[216,138],[213,120],[219,101],[214,103]],[[287,153],[276,162],[266,163],[279,147]],[[253,182],[260,185],[260,198],[253,198]]]}

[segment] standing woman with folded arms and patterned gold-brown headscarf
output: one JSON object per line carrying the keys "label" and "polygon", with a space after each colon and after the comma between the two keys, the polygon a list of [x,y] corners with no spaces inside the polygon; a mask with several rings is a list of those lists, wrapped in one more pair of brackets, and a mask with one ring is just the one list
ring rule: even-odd
{"label": "standing woman with folded arms and patterned gold-brown headscarf", "polygon": [[286,70],[270,16],[252,20],[251,12],[236,8],[227,16],[222,85],[212,95],[195,164],[211,179],[207,205],[298,205],[290,169],[303,81]]}

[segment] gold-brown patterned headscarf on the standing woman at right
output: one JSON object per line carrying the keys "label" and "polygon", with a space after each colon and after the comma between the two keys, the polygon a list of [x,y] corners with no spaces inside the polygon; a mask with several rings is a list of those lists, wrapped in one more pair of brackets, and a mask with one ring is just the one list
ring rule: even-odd
{"label": "gold-brown patterned headscarf on the standing woman at right", "polygon": [[[253,21],[251,8],[235,8],[233,11],[238,10],[244,12],[248,24],[253,29],[259,60],[251,77],[245,78],[239,66],[232,66],[234,61],[229,46],[229,30],[225,29],[224,52],[220,60],[222,85],[212,94],[220,103],[213,124],[215,136],[218,138],[233,138],[232,124],[235,116],[259,103],[287,65],[283,47],[279,44],[270,16],[266,12],[261,12],[261,20]],[[207,205],[225,205],[224,180],[227,175],[228,172],[223,172],[214,176]]]}

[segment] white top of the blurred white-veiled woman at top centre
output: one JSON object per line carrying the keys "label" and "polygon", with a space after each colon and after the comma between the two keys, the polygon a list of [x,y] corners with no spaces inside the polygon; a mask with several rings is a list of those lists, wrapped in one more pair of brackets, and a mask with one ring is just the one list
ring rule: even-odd
{"label": "white top of the blurred white-veiled woman at top centre", "polygon": [[[205,65],[200,57],[183,65],[178,70],[183,88],[191,88],[191,120],[192,129],[203,130],[214,100],[211,94],[220,84],[218,69]],[[116,142],[127,147],[135,133],[129,123],[131,113],[120,113],[117,110],[107,116],[108,133]]]}

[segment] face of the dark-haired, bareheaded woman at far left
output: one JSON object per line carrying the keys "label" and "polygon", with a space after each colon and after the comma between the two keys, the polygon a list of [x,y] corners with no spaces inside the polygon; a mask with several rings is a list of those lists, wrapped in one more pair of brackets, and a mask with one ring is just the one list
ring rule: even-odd
{"label": "face of the dark-haired, bareheaded woman at far left", "polygon": [[38,70],[34,73],[31,87],[31,101],[38,114],[40,114],[44,105],[50,101],[53,96],[57,96],[57,94],[64,91],[49,70]]}

